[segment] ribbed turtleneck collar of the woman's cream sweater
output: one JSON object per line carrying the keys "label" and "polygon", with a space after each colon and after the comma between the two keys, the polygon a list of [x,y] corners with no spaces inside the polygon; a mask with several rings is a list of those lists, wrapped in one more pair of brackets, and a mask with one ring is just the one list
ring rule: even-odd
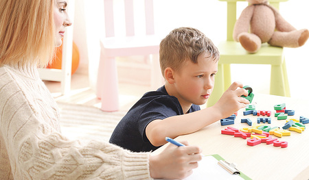
{"label": "ribbed turtleneck collar of the woman's cream sweater", "polygon": [[5,66],[10,68],[10,70],[14,71],[16,74],[19,74],[23,77],[32,79],[34,81],[40,79],[40,76],[38,75],[38,69],[35,64],[15,64],[12,66]]}

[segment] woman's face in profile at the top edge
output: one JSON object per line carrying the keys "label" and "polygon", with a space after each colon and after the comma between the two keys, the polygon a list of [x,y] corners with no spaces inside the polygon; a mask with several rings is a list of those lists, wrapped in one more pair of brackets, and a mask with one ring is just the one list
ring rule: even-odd
{"label": "woman's face in profile at the top edge", "polygon": [[62,38],[65,36],[65,27],[72,25],[67,14],[67,0],[55,0],[54,21],[56,31],[56,47],[62,44]]}

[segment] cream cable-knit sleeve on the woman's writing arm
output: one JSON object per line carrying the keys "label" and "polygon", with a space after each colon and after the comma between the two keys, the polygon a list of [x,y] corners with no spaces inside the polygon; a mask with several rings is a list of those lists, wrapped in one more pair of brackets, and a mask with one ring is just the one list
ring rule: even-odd
{"label": "cream cable-knit sleeve on the woman's writing arm", "polygon": [[21,144],[18,162],[29,179],[149,179],[148,154],[92,141],[82,146],[59,133],[33,134]]}

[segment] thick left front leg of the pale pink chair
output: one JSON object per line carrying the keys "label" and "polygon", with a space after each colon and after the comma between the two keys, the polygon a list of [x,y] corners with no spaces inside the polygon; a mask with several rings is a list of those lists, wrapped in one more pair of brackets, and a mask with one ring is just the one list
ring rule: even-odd
{"label": "thick left front leg of the pale pink chair", "polygon": [[100,58],[98,70],[98,92],[101,97],[101,110],[115,112],[119,110],[117,66],[114,58]]}

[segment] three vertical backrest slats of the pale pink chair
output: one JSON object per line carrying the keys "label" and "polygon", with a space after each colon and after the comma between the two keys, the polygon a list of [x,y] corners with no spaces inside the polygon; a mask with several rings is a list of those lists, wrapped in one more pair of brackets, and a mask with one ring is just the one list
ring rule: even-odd
{"label": "three vertical backrest slats of the pale pink chair", "polygon": [[[135,10],[134,0],[123,0],[124,1],[124,19],[126,36],[135,36]],[[141,1],[141,0],[139,0]],[[115,0],[104,0],[104,16],[105,16],[105,36],[115,36],[115,12],[114,12]],[[145,25],[146,35],[155,34],[155,22],[153,12],[153,0],[144,0],[145,8]],[[118,15],[119,16],[119,15]]]}

